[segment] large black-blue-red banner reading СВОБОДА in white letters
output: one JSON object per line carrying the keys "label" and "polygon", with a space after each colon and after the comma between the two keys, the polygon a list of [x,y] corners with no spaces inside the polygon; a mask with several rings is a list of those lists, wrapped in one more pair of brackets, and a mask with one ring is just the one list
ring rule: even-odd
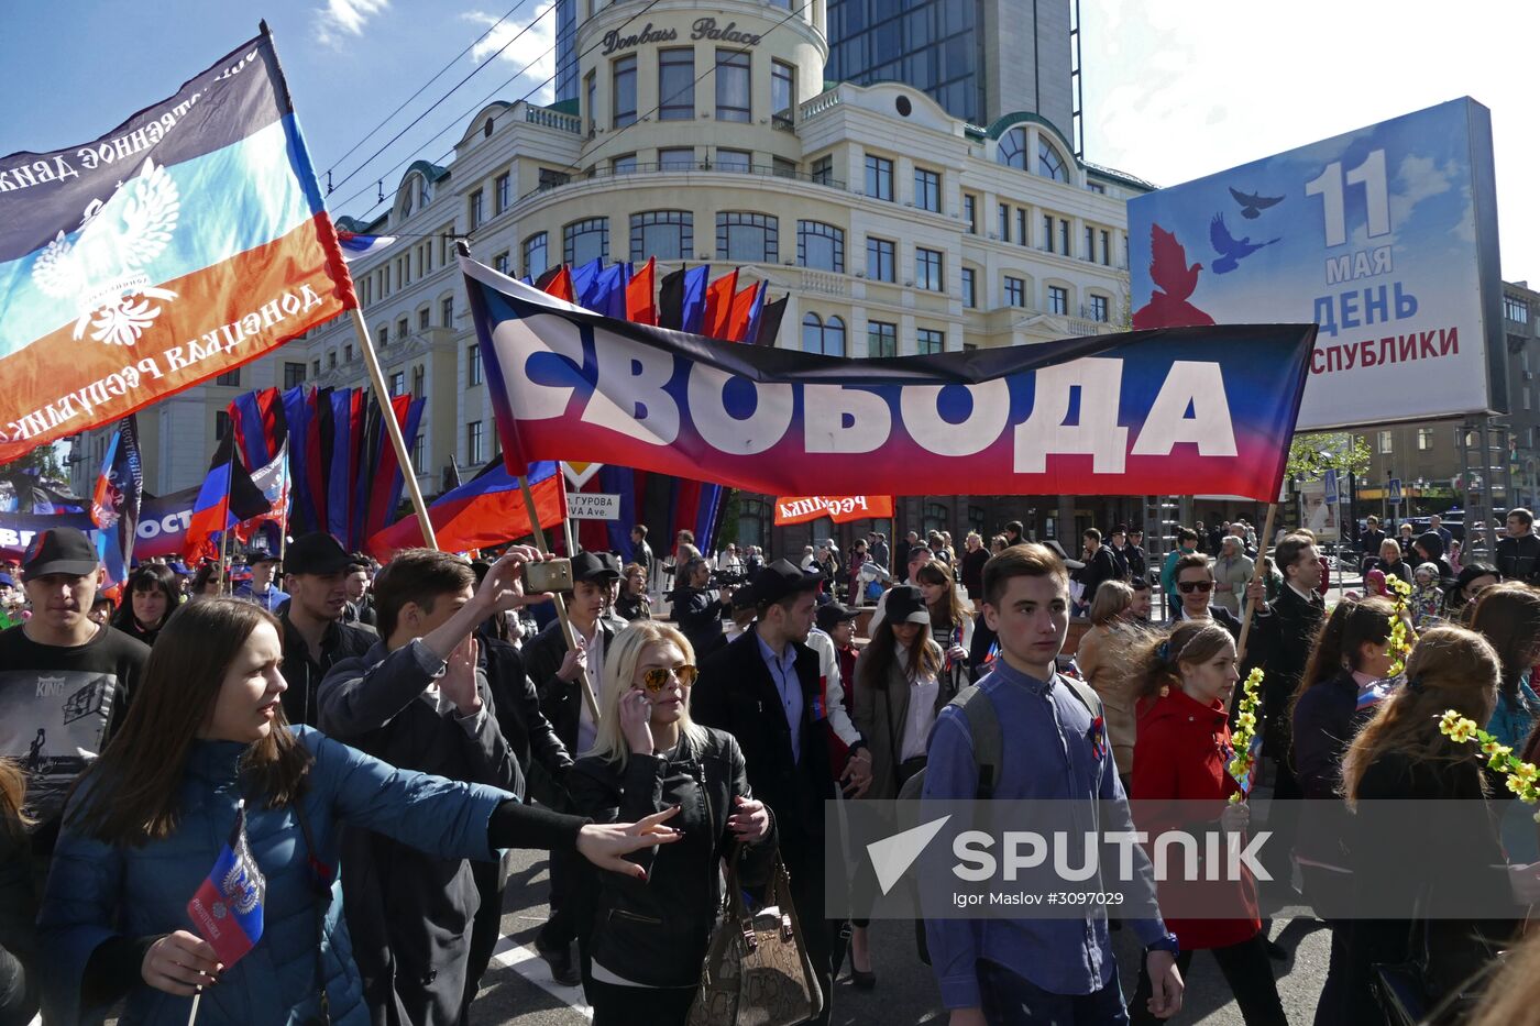
{"label": "large black-blue-red banner reading \u0421\u0412\u041e\u0411\u041e\u0414\u0410 in white letters", "polygon": [[614,320],[462,257],[508,470],[765,495],[1278,495],[1315,325],[841,359]]}

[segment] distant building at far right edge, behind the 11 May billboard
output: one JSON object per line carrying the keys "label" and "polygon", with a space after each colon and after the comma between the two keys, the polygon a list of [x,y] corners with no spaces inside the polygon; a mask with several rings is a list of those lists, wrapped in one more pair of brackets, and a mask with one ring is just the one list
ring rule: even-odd
{"label": "distant building at far right edge, behind the 11 May billboard", "polygon": [[[1358,516],[1394,513],[1388,482],[1401,481],[1404,516],[1465,508],[1488,491],[1494,508],[1540,504],[1540,293],[1528,282],[1503,282],[1503,339],[1508,344],[1508,413],[1468,421],[1400,424],[1358,431],[1369,445],[1369,470],[1358,479]],[[1437,381],[1428,382],[1437,388]],[[1483,459],[1481,421],[1486,421]],[[1511,490],[1511,491],[1509,491]]]}

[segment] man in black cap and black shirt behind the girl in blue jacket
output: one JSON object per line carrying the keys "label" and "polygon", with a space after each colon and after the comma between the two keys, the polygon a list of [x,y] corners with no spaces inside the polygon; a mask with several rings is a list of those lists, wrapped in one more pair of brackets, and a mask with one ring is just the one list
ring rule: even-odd
{"label": "man in black cap and black shirt behind the girl in blue jacket", "polygon": [[283,624],[283,715],[290,723],[317,726],[317,693],[326,672],[360,656],[379,641],[368,627],[343,624],[348,565],[353,558],[336,538],[314,531],[296,538],[285,553],[290,601],[279,610]]}

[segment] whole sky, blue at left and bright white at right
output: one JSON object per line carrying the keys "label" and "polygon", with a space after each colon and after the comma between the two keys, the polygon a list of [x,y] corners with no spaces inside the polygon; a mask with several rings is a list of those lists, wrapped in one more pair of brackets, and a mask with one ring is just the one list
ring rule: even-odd
{"label": "whole sky, blue at left and bright white at right", "polygon": [[[311,157],[334,214],[362,214],[374,182],[391,193],[414,159],[450,151],[488,96],[513,100],[551,72],[542,57],[551,0],[31,0],[0,25],[8,85],[0,154],[94,139],[177,89],[266,17],[279,45]],[[1540,5],[1466,0],[1081,0],[1086,156],[1161,185],[1212,174],[1315,139],[1474,96],[1492,108],[1503,276],[1540,285],[1540,168],[1528,49]],[[387,128],[343,156],[431,74],[513,17]],[[1451,17],[1458,12],[1458,17]],[[519,74],[534,63],[528,74]],[[462,77],[485,66],[420,125],[383,146]],[[511,82],[510,82],[511,79]],[[505,85],[507,83],[507,85]],[[536,94],[536,99],[548,99]],[[342,179],[354,173],[354,177]],[[362,196],[357,196],[362,191]]]}

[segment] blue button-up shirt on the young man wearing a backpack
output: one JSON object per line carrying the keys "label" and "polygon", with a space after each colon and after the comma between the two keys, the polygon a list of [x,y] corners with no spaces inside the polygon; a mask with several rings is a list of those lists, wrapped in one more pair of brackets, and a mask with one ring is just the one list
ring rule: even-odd
{"label": "blue button-up shirt on the young man wearing a backpack", "polygon": [[[1090,710],[1067,686],[1040,681],[1021,673],[1004,658],[978,682],[1009,738],[999,767],[995,798],[1086,801],[1087,821],[1092,803],[1112,800],[1121,821],[1103,820],[1103,830],[1132,830],[1112,746],[1100,756],[1089,739]],[[973,798],[978,793],[978,766],[973,739],[962,715],[941,710],[930,735],[924,798]],[[1135,847],[1135,864],[1144,863]],[[944,870],[950,872],[950,869]],[[1166,935],[1161,920],[1130,923],[1141,943]],[[1113,977],[1116,961],[1107,937],[1107,915],[1096,909],[1086,920],[927,920],[930,964],[941,984],[946,1008],[978,1008],[979,958],[987,958],[1052,994],[1095,994]]]}

